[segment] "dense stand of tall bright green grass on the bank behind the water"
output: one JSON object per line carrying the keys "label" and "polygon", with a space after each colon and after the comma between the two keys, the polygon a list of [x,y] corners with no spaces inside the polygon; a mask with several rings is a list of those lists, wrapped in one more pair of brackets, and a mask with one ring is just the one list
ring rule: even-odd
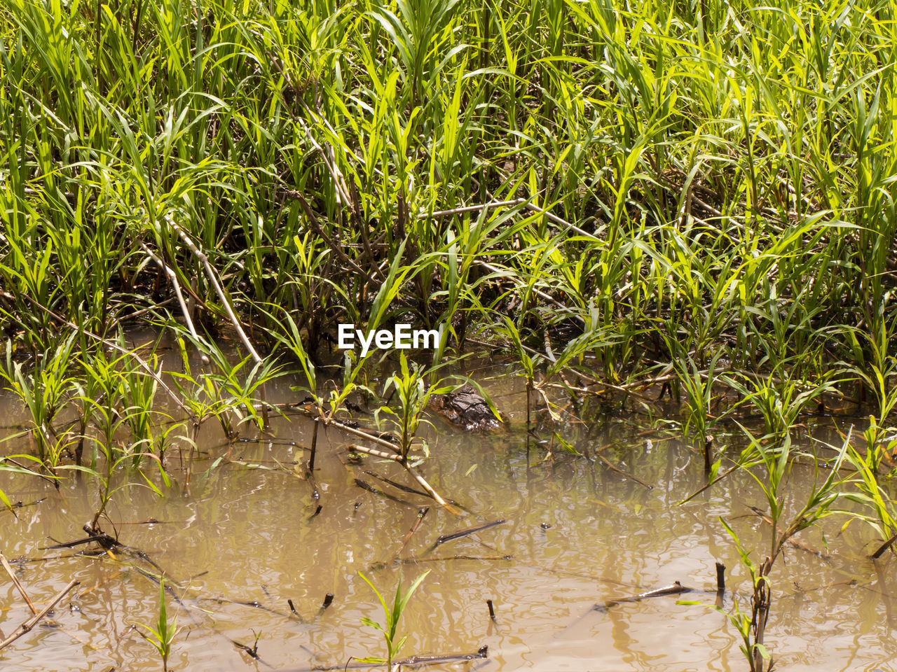
{"label": "dense stand of tall bright green grass on the bank behind the water", "polygon": [[[13,354],[41,366],[59,330],[83,346],[136,316],[208,342],[242,325],[248,355],[292,338],[267,317],[278,306],[312,357],[339,323],[405,315],[447,325],[443,358],[497,311],[546,361],[600,333],[588,369],[607,383],[674,363],[672,336],[699,370],[722,357],[806,383],[848,367],[859,398],[880,397],[897,159],[872,148],[894,115],[890,10],[544,9],[213,0],[200,17],[151,0],[122,22],[11,0]],[[259,418],[231,372],[260,361],[216,362],[235,422]]]}

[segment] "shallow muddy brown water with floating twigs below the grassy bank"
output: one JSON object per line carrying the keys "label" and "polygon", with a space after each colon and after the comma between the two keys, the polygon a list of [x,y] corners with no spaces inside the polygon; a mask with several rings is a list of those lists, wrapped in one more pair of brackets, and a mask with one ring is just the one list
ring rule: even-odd
{"label": "shallow muddy brown water with floating twigs below the grassy bank", "polygon": [[[516,380],[483,383],[509,414],[515,427],[509,434],[465,435],[438,420],[426,433],[431,458],[421,470],[440,493],[472,512],[462,518],[364,474],[374,470],[413,486],[395,465],[370,457],[344,465],[339,454],[353,439],[335,429],[319,436],[319,500],[293,469],[293,461],[307,457],[300,448],[272,442],[228,446],[212,422],[199,437],[204,454],[189,492],[172,454],[174,482],[164,496],[146,487],[118,491],[109,514],[119,540],[143,550],[184,586],[178,590],[181,607],[168,599],[169,616],[177,614],[181,628],[170,668],[342,668],[350,657],[381,656],[381,636],[361,625],[361,617],[382,622],[383,615],[358,572],[391,598],[399,577],[407,586],[430,570],[399,625],[408,635],[400,657],[489,647],[487,660],[431,669],[745,670],[736,629],[710,607],[677,605],[674,596],[625,602],[604,612],[590,608],[674,581],[699,590],[682,598],[712,604],[714,562],[720,560],[729,568],[723,607],[728,613],[736,604],[748,609],[749,581],[718,517],[731,521],[745,546],[755,549],[755,560],[766,552],[768,530],[749,509],[764,508],[753,479],[736,474],[677,505],[704,482],[702,456],[675,440],[658,441],[662,434],[640,435],[645,418],[596,417],[587,422],[588,430],[570,425],[561,434],[582,452],[608,446],[602,454],[654,485],[650,490],[600,461],[563,452],[557,442],[551,459],[544,459],[545,444],[533,440],[527,454],[520,428],[525,393]],[[269,390],[272,401],[291,394],[286,384]],[[8,396],[0,397],[0,418],[5,433],[23,421]],[[593,431],[596,425],[599,431]],[[309,423],[295,415],[275,419],[273,432],[299,444],[310,439]],[[551,443],[550,433],[541,438]],[[0,450],[27,448],[20,439]],[[229,451],[241,463],[221,464],[204,475]],[[412,505],[362,490],[355,478]],[[794,470],[790,505],[806,495],[812,478],[811,469]],[[154,571],[152,566],[127,554],[113,559],[39,549],[52,544],[50,538],[83,537],[95,485],[68,478],[57,492],[37,478],[0,472],[0,487],[13,502],[43,499],[15,516],[0,513],[0,548],[10,560],[20,560],[13,566],[31,599],[48,600],[73,578],[81,582],[51,619],[0,651],[2,668],[161,669],[152,646],[132,627],[156,622],[158,585],[136,569]],[[313,515],[318,505],[320,513]],[[419,507],[427,505],[429,513],[402,554],[418,560],[390,563]],[[159,522],[135,524],[150,518]],[[498,519],[507,522],[432,548],[440,535]],[[827,543],[830,561],[789,548],[775,565],[766,642],[779,669],[897,669],[889,597],[897,595],[893,560],[876,570],[865,558],[875,535],[859,522],[841,531],[845,521],[832,516],[799,537],[817,549]],[[109,523],[105,528],[112,531]],[[383,562],[388,564],[379,566]],[[328,592],[335,595],[333,604],[318,616]],[[288,599],[301,621],[291,616]],[[494,621],[487,599],[495,607]],[[0,607],[4,636],[30,615],[5,573]],[[256,635],[259,659],[232,643],[251,648]]]}

